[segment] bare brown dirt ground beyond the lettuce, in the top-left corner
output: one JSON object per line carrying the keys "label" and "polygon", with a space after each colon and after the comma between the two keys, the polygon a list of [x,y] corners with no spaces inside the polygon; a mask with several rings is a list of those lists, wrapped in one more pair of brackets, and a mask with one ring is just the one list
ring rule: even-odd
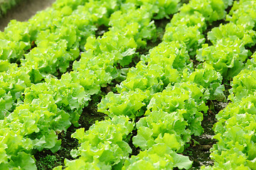
{"label": "bare brown dirt ground beyond the lettuce, in the top-left corner", "polygon": [[51,6],[55,0],[26,0],[12,8],[6,13],[6,16],[0,18],[0,30],[4,31],[9,21],[16,19],[17,21],[27,21],[37,11],[42,11]]}

